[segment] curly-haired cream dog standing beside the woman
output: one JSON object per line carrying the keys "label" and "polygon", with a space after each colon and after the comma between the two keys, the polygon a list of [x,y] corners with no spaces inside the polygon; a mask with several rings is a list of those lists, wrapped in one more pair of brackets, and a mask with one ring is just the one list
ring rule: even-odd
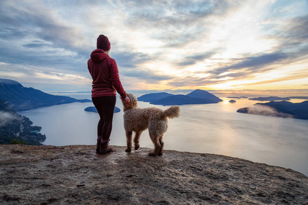
{"label": "curly-haired cream dog standing beside the woman", "polygon": [[142,131],[149,128],[149,135],[154,144],[154,151],[150,152],[150,156],[162,155],[164,141],[162,139],[164,133],[168,128],[167,118],[179,117],[180,108],[179,106],[171,106],[170,108],[163,111],[156,107],[139,108],[136,96],[133,94],[127,94],[131,102],[126,104],[122,100],[123,111],[124,111],[124,128],[127,138],[127,149],[126,152],[131,152],[131,139],[133,132],[136,133],[133,138],[135,150],[139,148],[139,139]]}

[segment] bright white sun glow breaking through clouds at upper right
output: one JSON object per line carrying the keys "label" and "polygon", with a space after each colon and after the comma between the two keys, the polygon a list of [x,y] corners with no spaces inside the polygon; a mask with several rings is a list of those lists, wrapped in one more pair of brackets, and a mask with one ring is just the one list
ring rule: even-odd
{"label": "bright white sun glow breaking through clouds at upper right", "polygon": [[260,2],[257,5],[253,2],[216,22],[209,42],[216,42],[217,47],[225,44],[225,49],[215,57],[229,59],[239,57],[242,53],[261,53],[277,46],[277,42],[266,38],[262,30],[261,14],[264,7]]}

